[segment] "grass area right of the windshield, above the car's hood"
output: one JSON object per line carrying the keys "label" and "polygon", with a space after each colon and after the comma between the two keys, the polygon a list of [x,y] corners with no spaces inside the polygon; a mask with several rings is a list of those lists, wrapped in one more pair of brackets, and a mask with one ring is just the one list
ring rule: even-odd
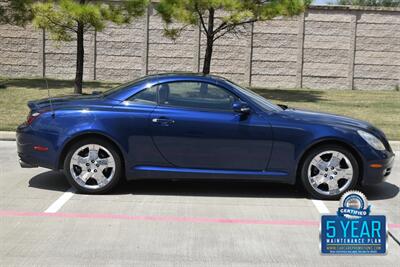
{"label": "grass area right of the windshield, above the car's hood", "polygon": [[400,92],[253,88],[275,103],[365,120],[400,140]]}

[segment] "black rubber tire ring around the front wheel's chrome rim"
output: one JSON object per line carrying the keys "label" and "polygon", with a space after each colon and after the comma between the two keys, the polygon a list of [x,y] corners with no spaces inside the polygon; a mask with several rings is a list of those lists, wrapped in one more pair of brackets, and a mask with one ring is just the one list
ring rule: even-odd
{"label": "black rubber tire ring around the front wheel's chrome rim", "polygon": [[[343,186],[344,191],[338,192],[337,194],[334,195],[325,195],[316,191],[316,189],[314,189],[314,187],[311,185],[311,182],[308,179],[308,168],[310,166],[311,161],[314,159],[314,157],[325,151],[337,151],[342,153],[350,161],[352,165],[351,167],[353,168],[352,179],[347,185]],[[301,163],[300,168],[301,168],[300,178],[303,187],[313,198],[316,199],[325,199],[325,200],[339,199],[346,191],[354,189],[354,187],[358,183],[360,175],[359,165],[354,155],[347,148],[339,145],[322,145],[312,149],[305,156],[304,160]]]}

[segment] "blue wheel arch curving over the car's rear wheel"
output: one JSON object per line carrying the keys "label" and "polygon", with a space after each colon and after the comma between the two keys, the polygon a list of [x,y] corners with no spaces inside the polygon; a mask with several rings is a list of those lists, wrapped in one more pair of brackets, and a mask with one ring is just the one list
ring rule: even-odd
{"label": "blue wheel arch curving over the car's rear wheel", "polygon": [[109,136],[107,136],[105,134],[102,134],[102,133],[98,133],[98,132],[81,133],[79,135],[73,136],[67,142],[65,142],[65,144],[64,144],[64,146],[63,146],[63,148],[61,150],[60,156],[58,158],[58,162],[57,162],[58,169],[63,169],[65,158],[66,158],[66,156],[68,154],[68,151],[71,148],[71,146],[74,143],[78,142],[79,140],[82,140],[82,139],[85,139],[85,138],[98,138],[98,139],[102,139],[104,141],[107,141],[111,145],[113,145],[114,148],[116,149],[117,153],[121,157],[122,168],[123,168],[123,170],[125,170],[125,157],[124,157],[124,154],[122,153],[121,147],[111,137],[109,137]]}

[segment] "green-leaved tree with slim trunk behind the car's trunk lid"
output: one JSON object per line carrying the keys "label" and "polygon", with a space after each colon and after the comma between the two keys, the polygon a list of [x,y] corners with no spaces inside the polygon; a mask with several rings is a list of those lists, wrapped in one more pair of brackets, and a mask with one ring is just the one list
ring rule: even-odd
{"label": "green-leaved tree with slim trunk behind the car's trunk lid", "polygon": [[75,93],[82,93],[84,64],[84,35],[88,31],[102,31],[107,22],[130,23],[142,16],[148,0],[124,0],[101,3],[89,0],[60,0],[35,2],[31,6],[33,24],[47,30],[56,41],[72,41],[77,45]]}

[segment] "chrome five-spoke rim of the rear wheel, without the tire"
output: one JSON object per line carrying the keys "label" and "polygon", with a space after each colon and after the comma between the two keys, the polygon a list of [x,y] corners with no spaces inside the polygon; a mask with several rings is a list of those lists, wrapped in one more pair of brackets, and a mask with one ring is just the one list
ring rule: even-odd
{"label": "chrome five-spoke rim of the rear wheel, without the tire", "polygon": [[70,172],[72,178],[84,188],[103,188],[114,177],[115,160],[105,147],[87,144],[72,155]]}

